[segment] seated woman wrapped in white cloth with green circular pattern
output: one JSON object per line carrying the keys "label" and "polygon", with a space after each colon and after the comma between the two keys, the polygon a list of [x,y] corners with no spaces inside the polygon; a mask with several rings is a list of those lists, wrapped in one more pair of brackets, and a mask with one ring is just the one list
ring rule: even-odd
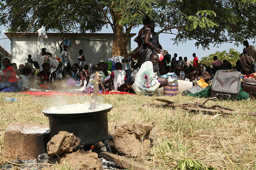
{"label": "seated woman wrapped in white cloth with green circular pattern", "polygon": [[153,95],[158,88],[167,85],[167,79],[158,77],[153,71],[153,66],[158,64],[158,55],[152,53],[150,61],[146,61],[140,67],[133,84],[133,90],[138,95]]}

